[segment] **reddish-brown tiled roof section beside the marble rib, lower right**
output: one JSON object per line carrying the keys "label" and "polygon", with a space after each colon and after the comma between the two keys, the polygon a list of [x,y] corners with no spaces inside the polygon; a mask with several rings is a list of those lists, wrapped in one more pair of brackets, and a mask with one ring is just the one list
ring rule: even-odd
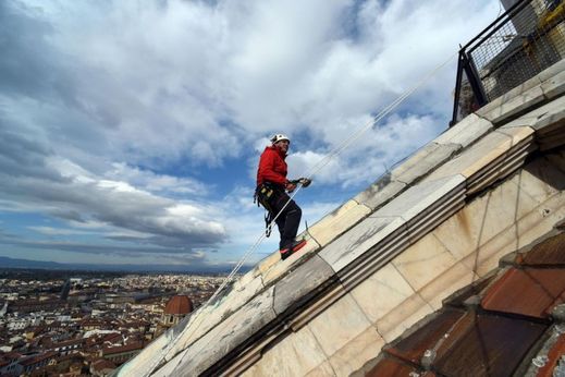
{"label": "reddish-brown tiled roof section beside the marble rib, lower right", "polygon": [[385,345],[366,376],[552,376],[565,355],[565,232],[505,262]]}

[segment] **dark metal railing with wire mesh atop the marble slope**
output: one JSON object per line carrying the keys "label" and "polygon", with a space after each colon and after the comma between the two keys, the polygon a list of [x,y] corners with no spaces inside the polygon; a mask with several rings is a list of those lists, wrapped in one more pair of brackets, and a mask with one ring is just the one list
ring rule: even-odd
{"label": "dark metal railing with wire mesh atop the marble slope", "polygon": [[450,125],[563,58],[565,1],[517,1],[460,48]]}

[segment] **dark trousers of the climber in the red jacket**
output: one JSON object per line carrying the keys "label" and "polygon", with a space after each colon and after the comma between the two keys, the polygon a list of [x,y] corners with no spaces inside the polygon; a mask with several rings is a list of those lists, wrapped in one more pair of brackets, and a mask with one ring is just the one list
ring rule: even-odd
{"label": "dark trousers of the climber in the red jacket", "polygon": [[[274,197],[270,202],[272,218],[281,211],[288,199],[290,196],[285,192],[278,191],[275,193]],[[286,207],[282,209],[279,218],[274,221],[277,222],[277,227],[279,227],[279,233],[281,233],[281,242],[279,243],[281,250],[288,247],[294,242],[294,239],[296,239],[303,211],[300,207],[291,199]]]}

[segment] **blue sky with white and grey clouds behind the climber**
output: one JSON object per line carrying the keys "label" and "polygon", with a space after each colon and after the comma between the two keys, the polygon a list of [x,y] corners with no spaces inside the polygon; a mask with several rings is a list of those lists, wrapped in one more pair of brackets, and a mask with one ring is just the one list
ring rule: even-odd
{"label": "blue sky with white and grey clouds behind the climber", "polygon": [[[291,178],[501,11],[495,0],[0,1],[0,256],[233,266]],[[446,129],[455,59],[296,196],[314,223]],[[303,227],[304,228],[304,224]],[[278,233],[251,255],[275,251]]]}

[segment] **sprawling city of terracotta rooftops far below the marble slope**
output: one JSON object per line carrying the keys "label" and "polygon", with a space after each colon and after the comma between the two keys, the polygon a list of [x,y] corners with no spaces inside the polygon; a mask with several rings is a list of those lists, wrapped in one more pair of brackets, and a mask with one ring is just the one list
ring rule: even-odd
{"label": "sprawling city of terracotta rooftops far below the marble slope", "polygon": [[206,302],[223,279],[4,269],[0,375],[108,375]]}

